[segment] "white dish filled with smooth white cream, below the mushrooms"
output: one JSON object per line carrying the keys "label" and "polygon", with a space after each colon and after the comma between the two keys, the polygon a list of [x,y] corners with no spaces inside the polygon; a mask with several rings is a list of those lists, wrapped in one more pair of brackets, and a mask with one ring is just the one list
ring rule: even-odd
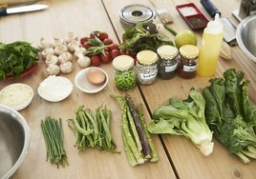
{"label": "white dish filled with smooth white cream, below the mushrooms", "polygon": [[67,98],[73,90],[68,78],[51,75],[42,81],[37,89],[38,94],[50,102],[59,102]]}

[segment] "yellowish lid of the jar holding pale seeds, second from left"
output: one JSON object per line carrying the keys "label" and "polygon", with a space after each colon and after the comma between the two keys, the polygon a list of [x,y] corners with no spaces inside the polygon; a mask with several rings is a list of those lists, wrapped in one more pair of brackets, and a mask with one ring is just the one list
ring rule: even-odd
{"label": "yellowish lid of the jar holding pale seeds, second from left", "polygon": [[157,62],[158,54],[152,50],[141,50],[137,53],[137,60],[142,65],[151,65]]}

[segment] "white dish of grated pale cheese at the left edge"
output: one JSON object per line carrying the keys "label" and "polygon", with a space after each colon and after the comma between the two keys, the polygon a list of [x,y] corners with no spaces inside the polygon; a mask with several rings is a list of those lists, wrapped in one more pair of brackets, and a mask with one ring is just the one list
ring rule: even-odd
{"label": "white dish of grated pale cheese at the left edge", "polygon": [[0,104],[16,110],[25,109],[32,102],[33,90],[22,83],[11,84],[0,91]]}

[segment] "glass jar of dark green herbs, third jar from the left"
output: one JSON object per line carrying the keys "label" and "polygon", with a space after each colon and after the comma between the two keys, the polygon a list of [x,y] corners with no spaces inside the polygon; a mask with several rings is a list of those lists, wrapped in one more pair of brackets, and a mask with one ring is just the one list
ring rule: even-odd
{"label": "glass jar of dark green herbs, third jar from the left", "polygon": [[178,65],[178,49],[174,46],[163,45],[157,50],[159,55],[158,75],[162,79],[174,77]]}

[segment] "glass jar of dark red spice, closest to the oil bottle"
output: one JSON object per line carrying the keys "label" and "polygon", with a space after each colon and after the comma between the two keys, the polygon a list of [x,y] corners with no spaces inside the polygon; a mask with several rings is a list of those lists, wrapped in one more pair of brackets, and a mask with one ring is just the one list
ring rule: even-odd
{"label": "glass jar of dark red spice, closest to the oil bottle", "polygon": [[199,48],[193,45],[184,45],[180,48],[180,61],[177,68],[177,73],[182,78],[190,79],[196,76],[198,68]]}

